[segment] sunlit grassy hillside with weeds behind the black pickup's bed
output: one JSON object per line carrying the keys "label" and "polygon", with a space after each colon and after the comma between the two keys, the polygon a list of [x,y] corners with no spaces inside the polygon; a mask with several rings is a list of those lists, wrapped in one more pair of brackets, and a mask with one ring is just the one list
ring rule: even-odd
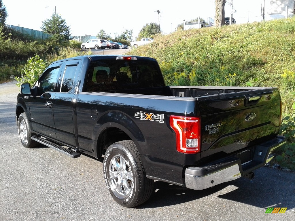
{"label": "sunlit grassy hillside with weeds behind the black pickup's bed", "polygon": [[167,85],[278,87],[283,112],[295,98],[295,18],[190,29],[130,52],[158,60]]}

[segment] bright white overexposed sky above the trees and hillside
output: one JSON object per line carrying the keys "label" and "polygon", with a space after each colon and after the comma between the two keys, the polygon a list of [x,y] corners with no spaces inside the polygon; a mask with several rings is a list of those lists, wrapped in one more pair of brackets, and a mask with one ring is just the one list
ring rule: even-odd
{"label": "bright white overexposed sky above the trees and hillside", "polygon": [[[227,0],[235,8],[233,17],[236,23],[260,21],[261,2],[263,0]],[[186,1],[76,1],[76,0],[2,0],[9,15],[6,24],[41,31],[42,21],[53,13],[60,14],[71,28],[72,36],[85,34],[96,36],[99,30],[119,36],[125,29],[133,30],[133,38],[139,34],[145,24],[159,24],[157,10],[161,11],[160,28],[164,34],[171,33],[183,20],[189,21],[198,17],[214,19],[214,0]],[[229,17],[232,7],[226,3],[225,17]],[[171,29],[172,23],[172,29]]]}

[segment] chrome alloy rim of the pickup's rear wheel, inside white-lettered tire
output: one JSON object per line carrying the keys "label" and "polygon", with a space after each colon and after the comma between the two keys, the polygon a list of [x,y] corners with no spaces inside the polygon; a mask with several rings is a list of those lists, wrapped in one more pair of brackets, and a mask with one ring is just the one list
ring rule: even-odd
{"label": "chrome alloy rim of the pickup's rear wheel, inside white-lettered tire", "polygon": [[118,198],[126,197],[134,186],[129,162],[120,155],[114,156],[109,164],[110,187]]}

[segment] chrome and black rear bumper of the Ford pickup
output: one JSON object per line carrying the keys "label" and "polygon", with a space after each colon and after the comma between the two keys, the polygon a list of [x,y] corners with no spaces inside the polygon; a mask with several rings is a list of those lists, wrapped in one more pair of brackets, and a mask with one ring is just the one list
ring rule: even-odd
{"label": "chrome and black rear bumper of the Ford pickup", "polygon": [[[199,167],[190,166],[185,170],[185,185],[189,189],[200,190],[238,179],[271,161],[273,156],[270,154],[285,143],[285,137],[277,136],[270,141],[251,147],[249,150],[253,152],[253,156],[243,164],[238,158],[240,154],[238,153]],[[243,152],[245,151],[241,153]]]}

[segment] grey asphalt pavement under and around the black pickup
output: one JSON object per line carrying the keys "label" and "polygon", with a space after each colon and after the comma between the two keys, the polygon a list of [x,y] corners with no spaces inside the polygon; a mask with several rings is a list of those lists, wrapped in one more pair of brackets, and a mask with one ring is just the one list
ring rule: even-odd
{"label": "grey asphalt pavement under and around the black pickup", "polygon": [[[0,220],[295,220],[295,173],[270,167],[205,190],[157,181],[148,202],[122,207],[106,189],[101,160],[21,145],[15,83],[0,84]],[[287,210],[266,214],[268,207]]]}

